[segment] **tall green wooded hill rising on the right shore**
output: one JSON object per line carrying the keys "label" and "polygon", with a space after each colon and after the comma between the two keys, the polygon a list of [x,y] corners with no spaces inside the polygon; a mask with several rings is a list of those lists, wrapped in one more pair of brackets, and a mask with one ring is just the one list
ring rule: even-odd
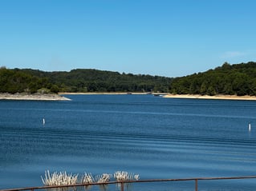
{"label": "tall green wooded hill rising on the right shore", "polygon": [[170,93],[201,95],[256,95],[256,62],[230,65],[204,73],[174,78]]}

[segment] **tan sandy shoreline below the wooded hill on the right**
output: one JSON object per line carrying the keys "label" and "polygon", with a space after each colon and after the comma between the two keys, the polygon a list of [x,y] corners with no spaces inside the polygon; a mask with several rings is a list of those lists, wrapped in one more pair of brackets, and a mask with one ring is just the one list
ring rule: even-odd
{"label": "tan sandy shoreline below the wooded hill on the right", "polygon": [[236,95],[192,95],[192,94],[166,94],[167,98],[186,98],[186,99],[222,99],[222,100],[255,100],[255,96],[236,96]]}

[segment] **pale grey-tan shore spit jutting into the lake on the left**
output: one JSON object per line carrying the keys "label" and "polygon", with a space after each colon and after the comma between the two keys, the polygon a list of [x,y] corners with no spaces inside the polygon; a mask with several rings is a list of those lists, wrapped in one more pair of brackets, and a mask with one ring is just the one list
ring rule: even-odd
{"label": "pale grey-tan shore spit jutting into the lake on the left", "polygon": [[0,94],[0,100],[69,101],[58,94]]}

